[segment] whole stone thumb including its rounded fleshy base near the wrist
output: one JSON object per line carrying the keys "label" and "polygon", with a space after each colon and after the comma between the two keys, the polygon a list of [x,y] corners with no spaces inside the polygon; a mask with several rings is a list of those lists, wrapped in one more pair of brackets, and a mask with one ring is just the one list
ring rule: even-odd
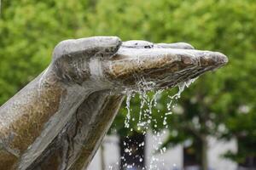
{"label": "whole stone thumb including its rounded fleshy base near the wrist", "polygon": [[66,40],[55,47],[51,68],[61,81],[82,84],[95,68],[90,68],[90,61],[111,58],[120,45],[119,37]]}

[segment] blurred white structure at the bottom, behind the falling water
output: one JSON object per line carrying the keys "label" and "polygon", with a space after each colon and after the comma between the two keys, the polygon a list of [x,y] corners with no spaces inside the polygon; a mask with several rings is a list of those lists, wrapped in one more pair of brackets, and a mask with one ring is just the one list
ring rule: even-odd
{"label": "blurred white structure at the bottom, behind the falling water", "polygon": [[[146,136],[146,160],[147,167],[152,162],[152,152],[154,146],[157,145],[160,139],[164,139],[166,135],[160,138],[148,133]],[[107,136],[103,141],[102,147],[97,151],[96,156],[90,163],[88,170],[119,170],[119,138],[117,136]],[[226,160],[221,156],[226,150],[236,150],[236,140],[230,142],[219,141],[209,138],[208,161],[209,170],[236,170],[237,165],[233,161]],[[103,156],[103,160],[102,160]],[[153,164],[157,164],[160,170],[183,170],[183,146],[178,145],[172,150],[166,150],[164,154],[154,155]],[[153,168],[154,169],[154,168]],[[189,170],[197,170],[196,167],[187,168]]]}

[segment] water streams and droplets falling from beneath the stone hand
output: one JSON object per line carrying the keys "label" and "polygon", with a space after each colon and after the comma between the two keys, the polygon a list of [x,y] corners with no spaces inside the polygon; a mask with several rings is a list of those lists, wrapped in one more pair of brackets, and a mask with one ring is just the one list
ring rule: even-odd
{"label": "water streams and droplets falling from beneath the stone hand", "polygon": [[[183,93],[183,90],[185,88],[189,88],[189,85],[193,82],[195,82],[196,78],[194,79],[190,79],[187,82],[181,82],[177,85],[178,87],[178,92],[177,94],[174,94],[172,96],[168,96],[168,98],[170,99],[170,101],[167,103],[166,107],[168,112],[166,112],[166,114],[162,117],[163,118],[163,122],[162,124],[164,125],[165,129],[163,131],[157,131],[157,130],[153,130],[153,140],[154,140],[154,144],[152,145],[153,147],[153,151],[151,153],[151,156],[148,157],[148,162],[149,165],[148,167],[142,167],[142,169],[148,169],[148,170],[159,170],[159,169],[163,169],[165,167],[165,161],[163,159],[158,158],[156,155],[159,153],[160,155],[163,155],[166,152],[166,148],[161,148],[160,146],[162,144],[162,139],[166,134],[166,129],[168,127],[167,124],[167,116],[172,115],[172,108],[175,106],[173,105],[174,102],[177,101],[177,99],[179,99],[181,97],[181,94]],[[127,114],[125,116],[125,128],[131,128],[130,130],[133,131],[132,127],[131,127],[131,120],[134,121],[133,119],[131,119],[131,98],[134,97],[135,94],[138,94],[138,97],[140,99],[140,108],[139,108],[139,117],[138,117],[138,122],[137,122],[137,130],[142,132],[143,135],[146,135],[146,133],[148,133],[149,127],[150,125],[154,122],[154,128],[157,129],[157,120],[152,118],[152,109],[155,108],[157,106],[157,102],[159,99],[160,94],[163,92],[163,90],[157,90],[154,92],[154,95],[152,97],[148,96],[148,90],[154,90],[155,87],[155,83],[154,82],[146,82],[144,81],[144,79],[142,79],[141,81],[139,81],[137,83],[137,90],[134,89],[126,89],[125,90],[125,94],[127,95],[126,97],[126,110],[127,110]],[[160,112],[158,110],[158,112]],[[128,136],[125,137],[126,139],[129,139]],[[125,152],[129,154],[129,156],[132,155],[132,147],[125,143]],[[144,147],[144,142],[137,144],[137,148],[139,147]],[[125,157],[122,156],[121,159],[123,159],[125,161]],[[142,162],[144,157],[138,157],[139,161]],[[124,165],[127,169],[132,169],[132,167],[135,166],[135,163],[132,164],[128,164],[125,163]]]}

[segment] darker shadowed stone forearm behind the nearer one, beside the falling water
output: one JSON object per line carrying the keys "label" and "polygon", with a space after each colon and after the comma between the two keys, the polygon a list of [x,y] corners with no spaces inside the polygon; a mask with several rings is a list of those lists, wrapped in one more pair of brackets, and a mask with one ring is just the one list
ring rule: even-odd
{"label": "darker shadowed stone forearm behind the nearer one, beside the falling water", "polygon": [[124,95],[90,94],[27,170],[86,169],[116,116]]}

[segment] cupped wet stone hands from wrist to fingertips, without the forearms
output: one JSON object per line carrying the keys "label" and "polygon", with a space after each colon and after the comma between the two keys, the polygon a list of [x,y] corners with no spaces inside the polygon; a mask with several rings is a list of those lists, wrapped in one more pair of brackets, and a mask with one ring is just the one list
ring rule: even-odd
{"label": "cupped wet stone hands from wrist to fingertips, without the forearms", "polygon": [[155,88],[170,88],[227,61],[224,54],[195,50],[184,42],[122,43],[119,37],[89,37],[60,42],[52,66],[61,81],[80,85],[136,88],[143,79],[155,82]]}

